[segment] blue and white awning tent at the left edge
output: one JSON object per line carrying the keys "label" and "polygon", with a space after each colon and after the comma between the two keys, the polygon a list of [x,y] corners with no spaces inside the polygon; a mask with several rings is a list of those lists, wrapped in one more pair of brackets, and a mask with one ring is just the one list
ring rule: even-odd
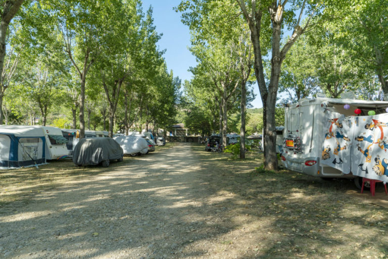
{"label": "blue and white awning tent at the left edge", "polygon": [[46,163],[41,126],[0,125],[0,168]]}

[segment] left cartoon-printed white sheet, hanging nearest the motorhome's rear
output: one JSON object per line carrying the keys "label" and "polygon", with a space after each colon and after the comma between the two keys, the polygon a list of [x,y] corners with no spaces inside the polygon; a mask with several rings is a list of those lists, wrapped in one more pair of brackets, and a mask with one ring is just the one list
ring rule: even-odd
{"label": "left cartoon-printed white sheet, hanging nearest the motorhome's rear", "polygon": [[324,141],[321,165],[331,166],[349,174],[351,170],[352,118],[325,110]]}

